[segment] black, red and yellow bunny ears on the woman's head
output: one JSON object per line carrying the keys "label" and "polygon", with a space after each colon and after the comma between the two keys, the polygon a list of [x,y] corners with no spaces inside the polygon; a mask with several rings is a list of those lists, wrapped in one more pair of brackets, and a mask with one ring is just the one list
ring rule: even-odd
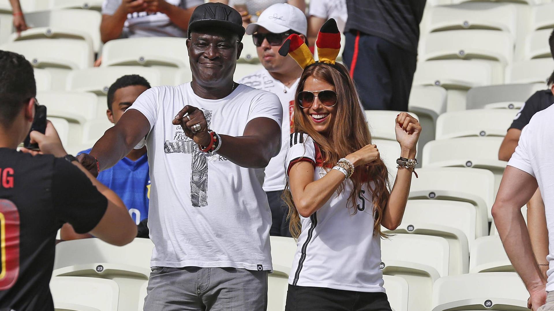
{"label": "black, red and yellow bunny ears on the woman's head", "polygon": [[[329,19],[317,34],[317,40],[315,42],[317,46],[317,55],[319,56],[319,63],[327,63],[335,65],[335,60],[338,56],[338,51],[341,48],[341,33],[338,31],[337,22],[335,19]],[[285,42],[279,49],[281,56],[290,54],[296,63],[300,65],[302,69],[307,66],[316,63],[314,56],[311,54],[310,49],[297,34],[289,35]]]}

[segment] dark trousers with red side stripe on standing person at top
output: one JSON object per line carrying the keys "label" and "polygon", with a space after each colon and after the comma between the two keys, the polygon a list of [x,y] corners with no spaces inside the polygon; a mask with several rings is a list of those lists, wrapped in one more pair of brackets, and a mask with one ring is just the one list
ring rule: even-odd
{"label": "dark trousers with red side stripe on standing person at top", "polygon": [[385,39],[348,32],[342,59],[366,110],[408,111],[417,55]]}

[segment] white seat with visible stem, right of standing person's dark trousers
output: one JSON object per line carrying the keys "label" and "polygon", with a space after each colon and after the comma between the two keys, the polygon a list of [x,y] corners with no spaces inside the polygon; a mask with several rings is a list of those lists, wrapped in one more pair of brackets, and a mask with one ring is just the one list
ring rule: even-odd
{"label": "white seat with visible stem, right of standing person's dark trousers", "polygon": [[465,110],[465,97],[471,87],[486,86],[504,81],[494,74],[491,61],[445,59],[419,61],[413,85],[442,86],[447,90],[447,111]]}

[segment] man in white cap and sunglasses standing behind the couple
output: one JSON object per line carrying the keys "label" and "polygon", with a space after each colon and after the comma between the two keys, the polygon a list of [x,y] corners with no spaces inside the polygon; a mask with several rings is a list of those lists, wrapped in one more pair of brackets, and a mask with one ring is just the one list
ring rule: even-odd
{"label": "man in white cap and sunglasses standing behind the couple", "polygon": [[289,135],[293,128],[291,120],[294,108],[294,94],[302,69],[290,56],[279,55],[279,48],[290,34],[299,34],[306,39],[306,16],[299,8],[287,3],[276,3],[260,14],[258,22],[248,25],[247,34],[252,34],[257,46],[258,57],[265,69],[240,79],[240,83],[256,89],[270,91],[283,105],[283,142],[279,154],[269,161],[265,168],[264,191],[268,196],[271,209],[270,235],[291,236],[289,221],[286,219],[288,208],[281,199],[285,189],[285,156]]}

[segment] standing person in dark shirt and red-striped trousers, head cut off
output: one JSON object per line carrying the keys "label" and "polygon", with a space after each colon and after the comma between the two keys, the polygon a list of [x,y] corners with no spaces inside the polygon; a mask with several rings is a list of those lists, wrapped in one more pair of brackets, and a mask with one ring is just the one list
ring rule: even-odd
{"label": "standing person in dark shirt and red-striped trousers, head cut off", "polygon": [[408,111],[425,0],[346,0],[343,60],[366,110]]}

